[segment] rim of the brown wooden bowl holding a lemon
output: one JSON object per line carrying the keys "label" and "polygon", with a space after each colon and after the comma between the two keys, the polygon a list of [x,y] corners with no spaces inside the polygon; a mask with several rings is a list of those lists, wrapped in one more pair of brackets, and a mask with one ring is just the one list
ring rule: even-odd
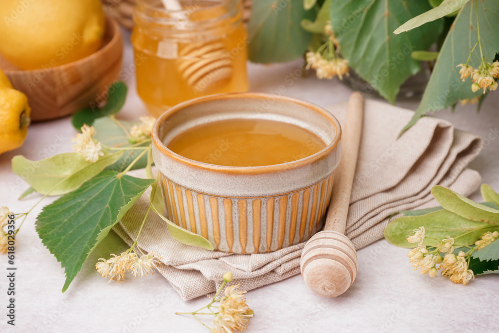
{"label": "rim of the brown wooden bowl holding a lemon", "polygon": [[109,29],[111,27],[112,27],[114,33],[113,33],[112,38],[107,43],[102,45],[97,51],[93,52],[92,54],[89,54],[86,57],[78,59],[76,61],[65,63],[63,65],[48,66],[46,68],[37,68],[37,69],[21,69],[21,68],[5,69],[5,70],[3,70],[3,72],[5,74],[8,73],[10,75],[14,75],[14,74],[20,75],[23,73],[36,74],[38,72],[49,72],[52,70],[65,70],[66,68],[68,68],[70,66],[79,66],[83,63],[94,60],[94,58],[101,57],[103,55],[101,53],[106,53],[108,51],[108,49],[112,48],[113,45],[118,43],[119,40],[121,39],[121,31],[120,31],[120,26],[119,26],[118,22],[112,16],[108,15],[107,13],[104,13],[104,17],[106,20],[106,31],[104,32],[104,34],[107,32],[107,29]]}

